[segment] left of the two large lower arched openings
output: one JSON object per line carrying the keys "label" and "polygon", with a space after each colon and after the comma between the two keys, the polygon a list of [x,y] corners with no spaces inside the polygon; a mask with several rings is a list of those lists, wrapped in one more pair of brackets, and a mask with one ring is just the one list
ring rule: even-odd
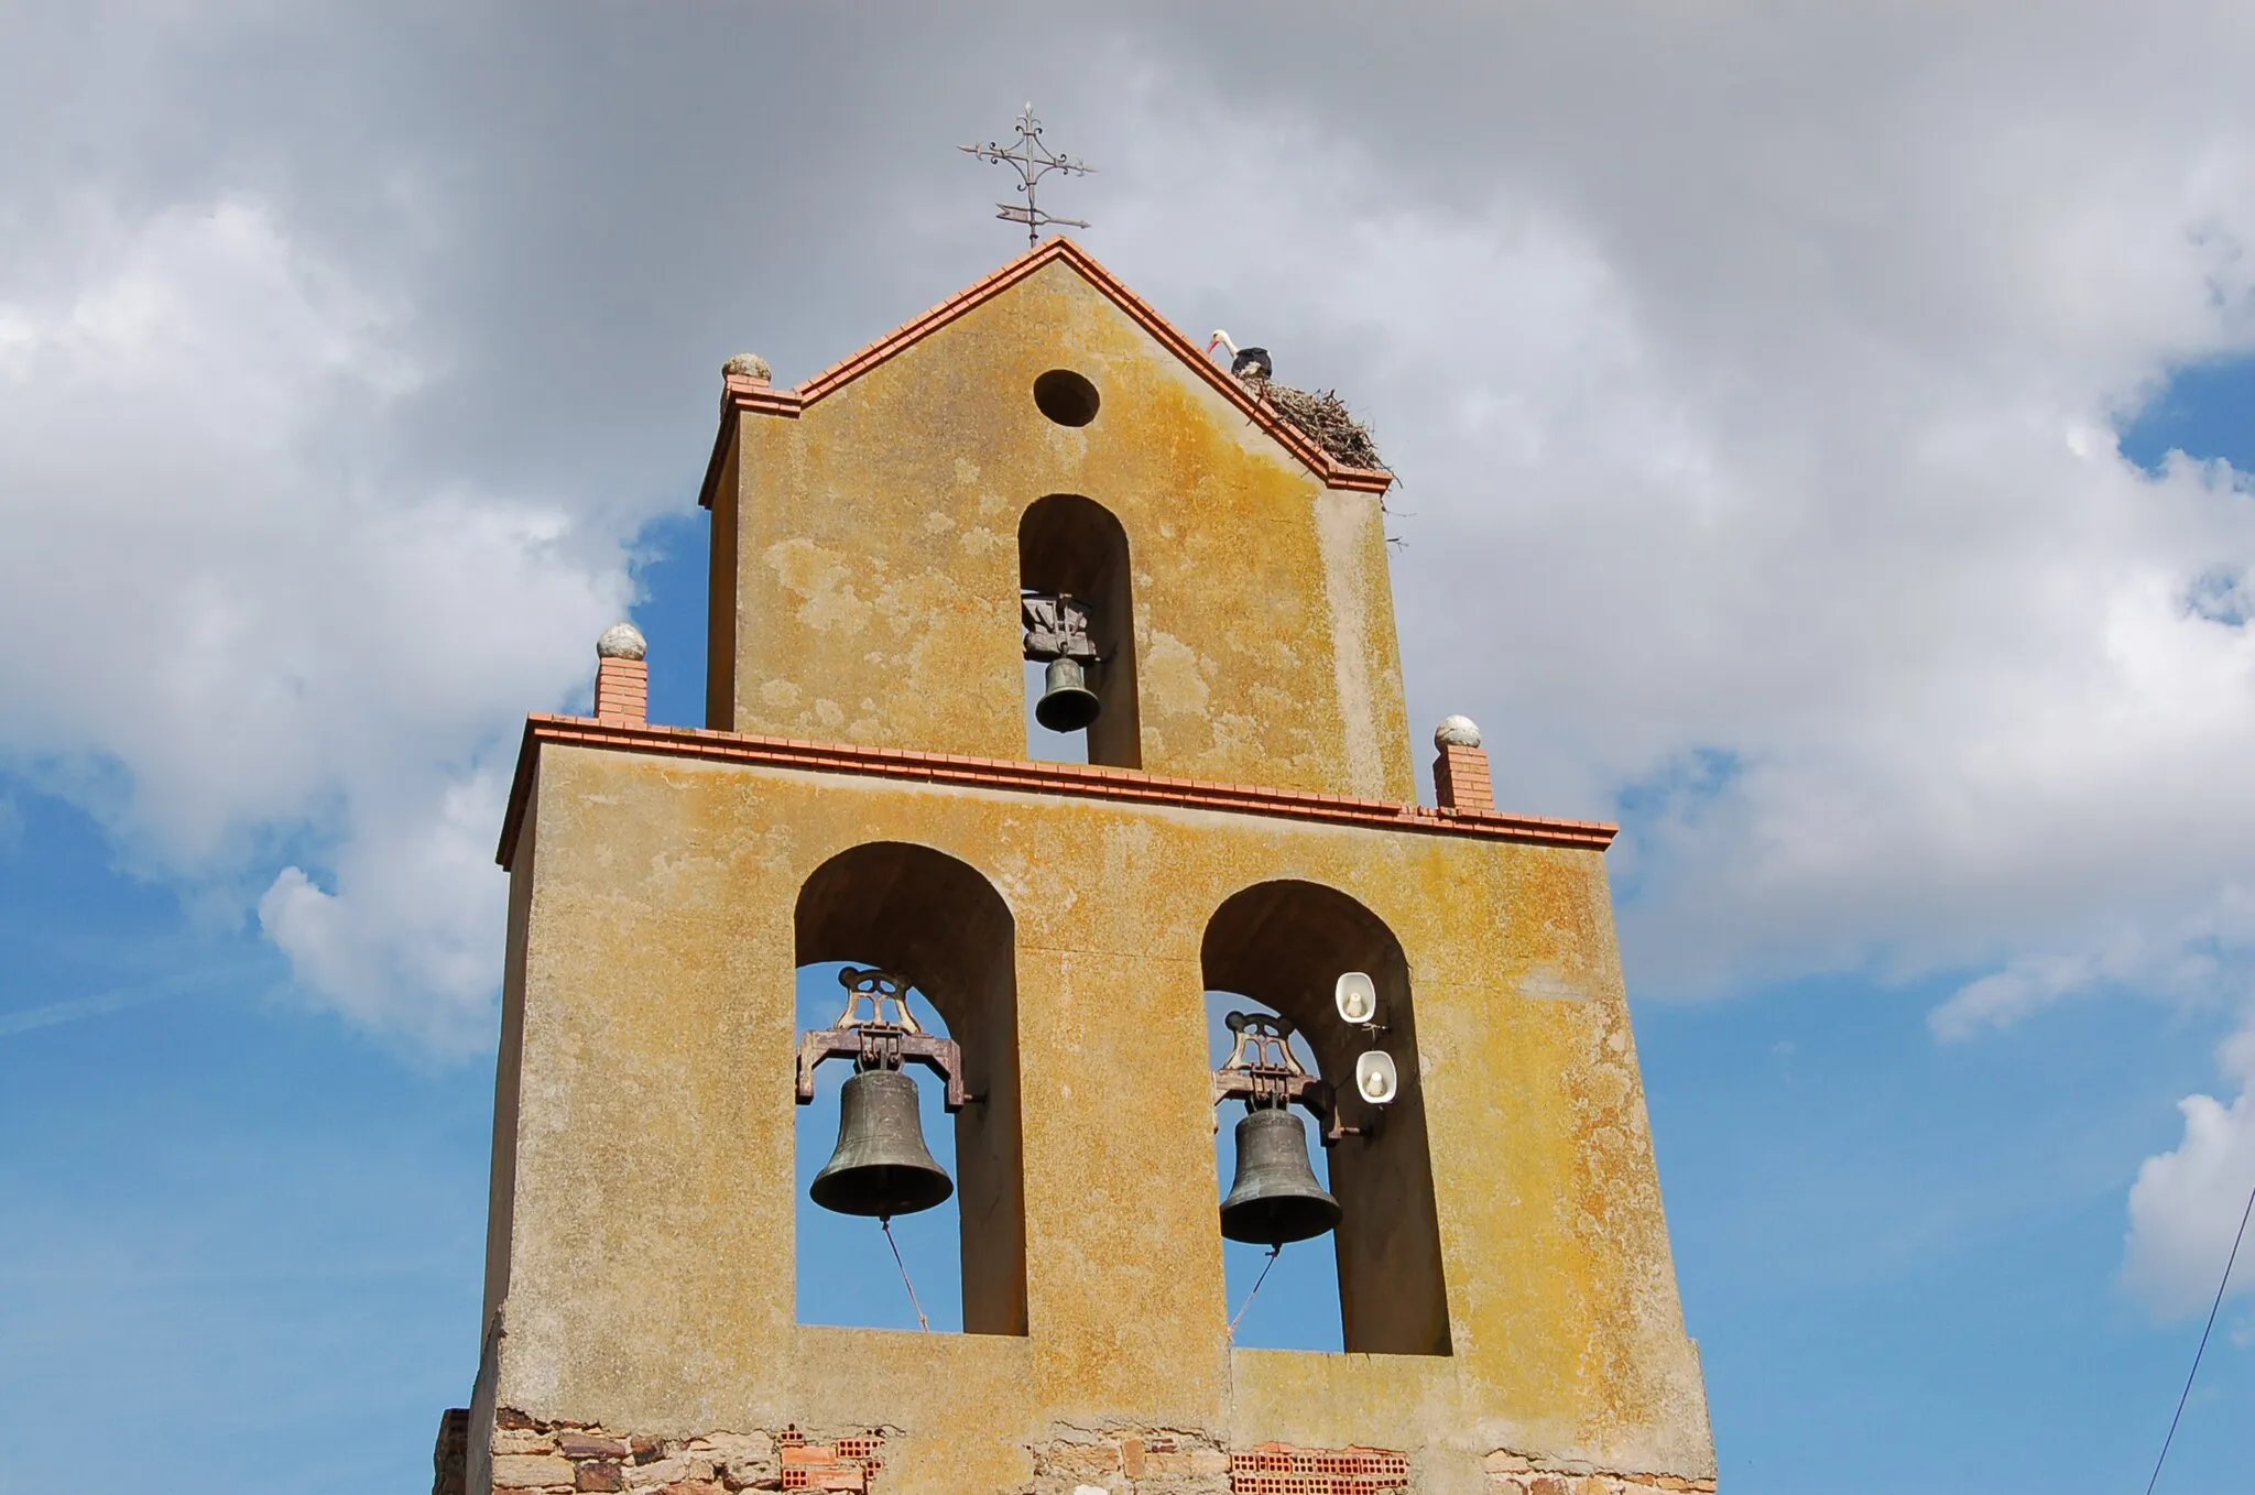
{"label": "left of the two large lower arched openings", "polygon": [[[819,1012],[821,1024],[839,1010],[839,988],[823,967],[834,972],[839,963],[875,965],[907,976],[927,1003],[920,1017],[936,1015],[963,1051],[970,1100],[956,1112],[952,1136],[940,1123],[945,1114],[938,1109],[938,1085],[922,1078],[918,1100],[925,1139],[956,1182],[954,1200],[943,1209],[954,1209],[961,1222],[963,1328],[974,1335],[1026,1333],[1015,936],[1017,922],[994,886],[929,846],[855,846],[814,868],[798,891],[796,965],[803,992],[810,992],[807,976],[828,981],[821,1001],[807,994],[807,1010]],[[823,1067],[830,1069],[846,1067]],[[801,1157],[812,1155],[814,1166],[821,1166],[837,1141],[837,1082],[816,1091],[819,1098],[823,1094],[830,1105],[801,1107],[798,1118]],[[805,1263],[810,1238],[830,1238],[837,1231],[832,1222],[843,1218],[825,1215],[807,1202],[805,1179],[798,1193],[798,1258]],[[891,1274],[877,1224],[846,1224],[857,1227],[857,1236],[866,1231],[868,1240],[857,1249],[873,1251]],[[895,1231],[900,1229],[895,1222]],[[913,1274],[916,1263],[909,1265]],[[801,1281],[805,1279],[801,1270]]]}

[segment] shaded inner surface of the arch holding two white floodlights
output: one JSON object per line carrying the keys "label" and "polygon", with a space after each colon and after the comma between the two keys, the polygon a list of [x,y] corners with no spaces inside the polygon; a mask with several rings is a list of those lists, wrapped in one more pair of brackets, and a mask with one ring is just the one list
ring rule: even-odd
{"label": "shaded inner surface of the arch holding two white floodlights", "polygon": [[[1254,884],[1213,911],[1200,961],[1209,992],[1249,997],[1292,1019],[1317,1073],[1339,1096],[1339,1121],[1360,1132],[1328,1148],[1326,1186],[1342,1211],[1333,1251],[1344,1348],[1450,1353],[1416,1012],[1400,940],[1346,893],[1279,879]],[[1333,1006],[1333,985],[1351,970],[1378,985],[1378,1033],[1346,1024]],[[1355,1091],[1355,1058],[1369,1049],[1394,1058],[1400,1091],[1391,1105],[1367,1105]],[[1222,1116],[1224,1130],[1231,1121]],[[1310,1141],[1317,1132],[1310,1118]]]}

